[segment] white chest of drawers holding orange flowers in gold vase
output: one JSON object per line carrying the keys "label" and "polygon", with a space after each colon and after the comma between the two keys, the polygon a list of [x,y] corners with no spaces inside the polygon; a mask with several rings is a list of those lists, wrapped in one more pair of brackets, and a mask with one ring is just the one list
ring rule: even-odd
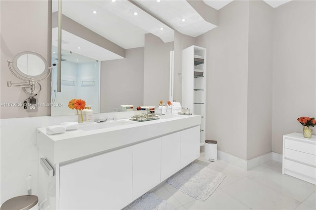
{"label": "white chest of drawers holding orange flowers in gold vase", "polygon": [[283,136],[282,174],[316,184],[316,136],[312,139],[302,133]]}

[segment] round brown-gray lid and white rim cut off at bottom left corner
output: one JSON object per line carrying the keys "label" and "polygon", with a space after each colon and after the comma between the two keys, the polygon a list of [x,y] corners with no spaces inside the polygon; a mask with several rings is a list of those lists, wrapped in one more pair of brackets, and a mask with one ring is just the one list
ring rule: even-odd
{"label": "round brown-gray lid and white rim cut off at bottom left corner", "polygon": [[0,210],[38,210],[39,198],[36,195],[22,195],[4,202]]}

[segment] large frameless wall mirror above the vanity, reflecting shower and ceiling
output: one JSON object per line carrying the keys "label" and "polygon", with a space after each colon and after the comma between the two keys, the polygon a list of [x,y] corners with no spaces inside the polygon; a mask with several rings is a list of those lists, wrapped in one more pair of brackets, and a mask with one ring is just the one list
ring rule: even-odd
{"label": "large frameless wall mirror above the vanity, reflecting shower and ceiling", "polygon": [[[57,11],[52,1],[51,115],[75,114],[71,99],[94,113],[170,99],[172,29],[130,1],[63,0],[61,92],[57,92]],[[136,14],[137,13],[137,14]]]}

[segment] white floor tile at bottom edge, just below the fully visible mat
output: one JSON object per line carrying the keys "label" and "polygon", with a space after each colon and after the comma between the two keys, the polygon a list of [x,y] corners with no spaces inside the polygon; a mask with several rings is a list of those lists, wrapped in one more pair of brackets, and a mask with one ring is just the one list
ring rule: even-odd
{"label": "white floor tile at bottom edge, just below the fully visible mat", "polygon": [[216,190],[206,201],[194,200],[186,205],[188,210],[246,210],[246,205],[237,201],[222,190]]}

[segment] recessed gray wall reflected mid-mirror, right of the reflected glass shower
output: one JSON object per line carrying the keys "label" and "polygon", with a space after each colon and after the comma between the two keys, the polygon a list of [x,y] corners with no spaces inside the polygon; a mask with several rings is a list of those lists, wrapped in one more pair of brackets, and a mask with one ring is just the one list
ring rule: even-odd
{"label": "recessed gray wall reflected mid-mirror, right of the reflected glass shower", "polygon": [[101,62],[100,112],[143,105],[144,47],[126,49],[125,59]]}

